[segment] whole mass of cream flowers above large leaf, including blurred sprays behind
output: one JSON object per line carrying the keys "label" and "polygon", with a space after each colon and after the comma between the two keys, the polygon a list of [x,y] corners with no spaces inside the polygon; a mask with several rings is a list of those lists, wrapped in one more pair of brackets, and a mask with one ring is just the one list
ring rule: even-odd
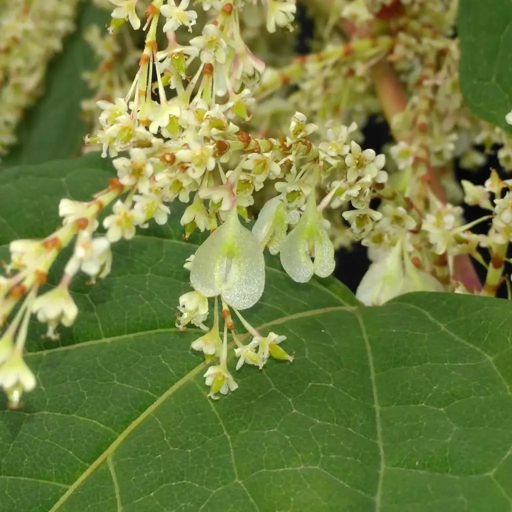
{"label": "whole mass of cream flowers above large leaf, including blurred sprays behind", "polygon": [[[463,105],[455,1],[433,0],[433,11],[420,0],[342,0],[316,41],[323,49],[280,69],[266,67],[249,41],[254,27],[292,29],[294,0],[201,0],[199,11],[188,0],[108,3],[108,34],[87,34],[100,65],[86,76],[96,93],[83,106],[89,114],[99,109],[86,142],[113,159],[117,178],[90,202],[63,199],[62,226],[47,238],[10,246],[0,278],[0,387],[13,404],[35,385],[22,357],[30,316],[58,336],[58,325],[70,326],[78,314],[69,291],[74,276],[104,278],[111,245],[152,221],[165,224],[173,202],[185,205],[185,238],[209,232],[185,263],[191,290],[179,298],[176,325],[204,331],[191,348],[210,364],[204,377],[214,399],[238,387],[228,369],[231,346],[237,369],[262,369],[270,357],[293,360],[280,345],[284,336],[259,332],[241,313],[264,292],[266,250],[305,283],[332,274],[335,247],[360,242],[372,264],[356,295],[378,305],[408,291],[480,293],[455,278],[455,267],[461,255],[478,260],[477,248],[485,247],[492,264],[481,293],[495,294],[512,241],[510,183],[493,173],[485,186],[463,182],[462,190],[450,172],[437,171],[454,157],[480,164],[474,144],[483,141],[503,143],[499,158],[506,168],[512,162],[504,133]],[[140,53],[131,30],[144,34]],[[400,108],[386,83],[394,97],[403,92]],[[365,149],[358,128],[380,111],[395,137],[389,158]],[[473,234],[475,223],[447,202],[457,194],[489,210],[477,221],[488,221],[487,235]],[[70,244],[59,285],[38,294]],[[233,317],[247,336],[237,334]]]}

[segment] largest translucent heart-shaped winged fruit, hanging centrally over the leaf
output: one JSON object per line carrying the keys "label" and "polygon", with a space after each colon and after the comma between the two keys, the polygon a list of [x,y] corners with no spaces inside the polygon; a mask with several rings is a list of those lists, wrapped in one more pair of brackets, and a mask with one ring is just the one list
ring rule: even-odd
{"label": "largest translucent heart-shaped winged fruit, hanging centrally over the leaf", "polygon": [[236,208],[197,250],[190,283],[206,297],[221,295],[237,309],[259,301],[265,288],[265,260],[258,239],[240,224]]}

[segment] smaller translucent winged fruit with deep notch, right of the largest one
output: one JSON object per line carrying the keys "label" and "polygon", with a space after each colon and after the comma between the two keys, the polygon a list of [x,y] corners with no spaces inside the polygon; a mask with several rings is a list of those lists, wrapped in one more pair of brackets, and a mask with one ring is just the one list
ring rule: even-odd
{"label": "smaller translucent winged fruit with deep notch, right of the largest one", "polygon": [[301,220],[288,233],[280,258],[286,273],[297,283],[306,283],[313,273],[327,278],[334,271],[334,246],[316,208],[313,193],[308,197]]}

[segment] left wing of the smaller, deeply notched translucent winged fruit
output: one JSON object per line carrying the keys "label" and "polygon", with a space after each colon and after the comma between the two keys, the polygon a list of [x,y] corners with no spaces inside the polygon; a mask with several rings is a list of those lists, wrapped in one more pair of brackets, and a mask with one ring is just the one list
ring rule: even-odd
{"label": "left wing of the smaller, deeply notched translucent winged fruit", "polygon": [[313,275],[313,262],[308,249],[310,230],[308,223],[303,223],[301,219],[288,233],[280,252],[281,265],[297,283],[307,283]]}

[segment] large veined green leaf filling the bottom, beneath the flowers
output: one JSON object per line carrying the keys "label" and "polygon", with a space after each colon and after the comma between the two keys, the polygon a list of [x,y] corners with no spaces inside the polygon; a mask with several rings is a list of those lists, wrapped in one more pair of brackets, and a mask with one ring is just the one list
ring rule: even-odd
{"label": "large veined green leaf filling the bottom, beneath the flowers", "polygon": [[[94,158],[0,175],[2,243],[34,236],[31,223],[49,232],[61,194],[102,188],[111,170]],[[22,175],[41,202],[13,194]],[[198,332],[174,327],[195,250],[176,218],[166,238],[117,244],[96,287],[74,283],[81,314],[59,343],[32,330],[39,386],[23,411],[0,412],[0,511],[510,510],[507,302],[424,293],[357,307],[341,285],[268,268],[248,319],[286,335],[295,361],[236,373],[230,361],[240,388],[214,402],[189,349]]]}

